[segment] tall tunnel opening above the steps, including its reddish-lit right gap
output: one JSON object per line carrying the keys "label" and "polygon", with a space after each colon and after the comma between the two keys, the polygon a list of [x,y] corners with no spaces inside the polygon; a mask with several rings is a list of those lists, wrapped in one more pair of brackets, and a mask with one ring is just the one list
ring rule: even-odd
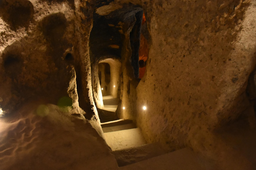
{"label": "tall tunnel opening above the steps, including its reddish-lit right gap", "polygon": [[[90,33],[94,102],[98,109],[105,109],[106,98],[111,96],[118,101],[112,104],[117,106],[116,117],[129,118],[126,115],[130,112],[135,115],[134,91],[146,72],[149,40],[146,17],[139,5],[122,4],[122,8],[109,12],[105,11],[106,7],[113,6],[108,3],[96,6]],[[117,71],[115,67],[119,67]],[[102,112],[98,113],[103,122]]]}

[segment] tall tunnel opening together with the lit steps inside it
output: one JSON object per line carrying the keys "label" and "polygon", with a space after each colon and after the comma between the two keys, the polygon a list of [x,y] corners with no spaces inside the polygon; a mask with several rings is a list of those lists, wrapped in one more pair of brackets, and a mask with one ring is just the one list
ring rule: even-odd
{"label": "tall tunnel opening together with the lit steps inside it", "polygon": [[147,143],[130,115],[136,114],[136,87],[145,73],[148,46],[142,8],[131,3],[111,7],[107,2],[96,7],[89,45],[94,101],[105,140],[114,151]]}

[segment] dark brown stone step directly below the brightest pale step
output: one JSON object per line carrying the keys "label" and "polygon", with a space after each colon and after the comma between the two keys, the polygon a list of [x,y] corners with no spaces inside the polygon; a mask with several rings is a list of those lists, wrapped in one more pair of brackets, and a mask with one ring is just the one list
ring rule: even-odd
{"label": "dark brown stone step directly below the brightest pale step", "polygon": [[113,151],[119,167],[126,166],[153,158],[159,155],[167,154],[167,150],[163,149],[158,143],[149,143],[135,148]]}

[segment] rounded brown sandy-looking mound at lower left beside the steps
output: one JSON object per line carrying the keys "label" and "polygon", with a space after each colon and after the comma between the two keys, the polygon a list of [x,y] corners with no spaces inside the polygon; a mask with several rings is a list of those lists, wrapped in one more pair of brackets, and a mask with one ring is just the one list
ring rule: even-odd
{"label": "rounded brown sandy-looking mound at lower left beside the steps", "polygon": [[55,105],[30,105],[0,118],[0,137],[2,170],[117,168],[91,124]]}

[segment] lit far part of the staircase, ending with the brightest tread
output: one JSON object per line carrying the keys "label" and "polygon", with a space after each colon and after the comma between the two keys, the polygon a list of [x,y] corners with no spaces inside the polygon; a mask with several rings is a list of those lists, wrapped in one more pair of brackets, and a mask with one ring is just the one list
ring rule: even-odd
{"label": "lit far part of the staircase, ending with the brightest tread", "polygon": [[[108,116],[104,117],[103,122],[105,123],[101,123],[101,127],[107,144],[113,151],[145,145],[147,142],[141,130],[137,128],[132,120],[118,119],[111,121],[117,118],[115,112],[118,101],[119,99],[113,96],[103,96],[104,107],[102,113],[106,113]],[[103,118],[103,116],[101,117]],[[109,121],[107,121],[107,118],[109,118]]]}

